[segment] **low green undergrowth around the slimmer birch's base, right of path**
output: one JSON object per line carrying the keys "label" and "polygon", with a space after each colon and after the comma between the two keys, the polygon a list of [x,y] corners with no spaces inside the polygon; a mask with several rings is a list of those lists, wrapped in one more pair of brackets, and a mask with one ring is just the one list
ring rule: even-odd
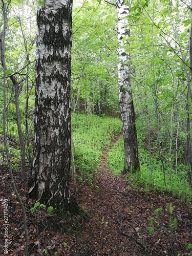
{"label": "low green undergrowth around the slimmer birch's base, right of path", "polygon": [[[139,150],[139,152],[141,151],[142,149]],[[142,157],[140,154],[140,158],[140,172],[127,175],[127,181],[132,187],[139,189],[142,185],[142,189],[145,192],[151,190],[160,191],[161,193],[171,192],[173,195],[179,195],[183,199],[191,199],[191,192],[187,182],[187,166],[180,163],[177,167],[177,175],[176,170],[167,166],[165,169],[166,182],[164,182],[161,163],[157,161],[156,155],[152,157],[151,165],[143,161],[143,159],[147,161],[147,156],[143,155],[143,151]],[[109,152],[108,166],[114,175],[119,175],[123,170],[123,163],[124,145],[123,137],[121,136]]]}

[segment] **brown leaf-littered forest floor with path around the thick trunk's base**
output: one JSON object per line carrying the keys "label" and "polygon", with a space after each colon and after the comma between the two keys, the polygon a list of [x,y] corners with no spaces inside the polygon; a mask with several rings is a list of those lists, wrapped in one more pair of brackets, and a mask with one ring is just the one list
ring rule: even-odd
{"label": "brown leaf-littered forest floor with path around the thick trunk's base", "polygon": [[[117,139],[115,136],[112,142]],[[125,176],[114,176],[106,166],[108,151],[103,153],[94,186],[77,183],[76,200],[89,219],[78,216],[72,227],[42,208],[31,214],[35,202],[28,197],[27,180],[14,172],[27,212],[28,255],[192,255],[190,205],[170,194],[146,193],[141,185],[134,189]],[[5,168],[0,194],[0,255],[6,254],[6,242],[8,255],[24,255],[23,214]]]}

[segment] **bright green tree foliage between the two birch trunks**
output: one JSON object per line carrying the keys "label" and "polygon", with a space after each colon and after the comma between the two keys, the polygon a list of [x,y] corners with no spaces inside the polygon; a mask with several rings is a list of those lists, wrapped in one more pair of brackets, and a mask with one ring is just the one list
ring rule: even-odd
{"label": "bright green tree foliage between the two birch trunks", "polygon": [[98,1],[84,1],[74,7],[72,108],[80,86],[78,112],[119,112],[115,18],[114,8],[103,8]]}

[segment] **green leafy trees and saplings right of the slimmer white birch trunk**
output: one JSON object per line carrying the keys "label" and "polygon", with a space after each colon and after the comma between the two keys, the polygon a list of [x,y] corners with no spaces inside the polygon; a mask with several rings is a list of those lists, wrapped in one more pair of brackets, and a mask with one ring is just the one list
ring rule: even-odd
{"label": "green leafy trees and saplings right of the slimmer white birch trunk", "polygon": [[170,182],[175,173],[186,178],[187,168],[190,168],[186,146],[191,104],[190,100],[188,102],[189,8],[183,1],[141,1],[135,2],[130,12],[133,33],[127,49],[133,56],[131,67],[135,71],[132,80],[137,127],[143,130],[139,133],[139,143],[148,140],[153,154],[152,162],[149,160],[153,175],[156,175],[158,162],[161,163],[158,171],[163,170],[164,180],[166,176]]}

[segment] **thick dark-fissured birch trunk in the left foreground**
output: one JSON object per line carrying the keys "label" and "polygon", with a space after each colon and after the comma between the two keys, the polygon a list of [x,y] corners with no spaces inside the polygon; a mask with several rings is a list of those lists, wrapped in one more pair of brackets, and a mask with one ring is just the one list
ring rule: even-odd
{"label": "thick dark-fissured birch trunk in the left foreground", "polygon": [[37,11],[35,142],[31,197],[69,209],[72,0],[46,0]]}

